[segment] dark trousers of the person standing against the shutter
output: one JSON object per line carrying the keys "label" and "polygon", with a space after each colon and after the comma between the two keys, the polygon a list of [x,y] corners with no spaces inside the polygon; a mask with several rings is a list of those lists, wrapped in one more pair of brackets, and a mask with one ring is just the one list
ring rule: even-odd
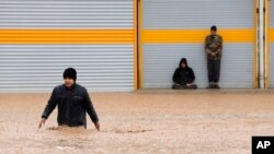
{"label": "dark trousers of the person standing against the shutter", "polygon": [[207,59],[207,71],[209,82],[219,82],[220,76],[220,59]]}

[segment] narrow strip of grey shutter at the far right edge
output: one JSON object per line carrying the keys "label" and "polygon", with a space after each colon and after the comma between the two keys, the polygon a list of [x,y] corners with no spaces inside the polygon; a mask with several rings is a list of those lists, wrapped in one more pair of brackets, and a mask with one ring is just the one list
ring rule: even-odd
{"label": "narrow strip of grey shutter at the far right edge", "polygon": [[[270,27],[274,32],[274,1],[270,1]],[[271,33],[273,37],[273,33]],[[274,37],[273,37],[274,38]],[[270,87],[274,87],[274,42],[270,43]]]}

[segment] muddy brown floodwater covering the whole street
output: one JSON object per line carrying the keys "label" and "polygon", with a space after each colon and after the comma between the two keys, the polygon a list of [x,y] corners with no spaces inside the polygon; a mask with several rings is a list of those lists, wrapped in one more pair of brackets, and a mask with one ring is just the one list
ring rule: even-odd
{"label": "muddy brown floodwater covering the whole street", "polygon": [[0,94],[0,154],[251,154],[274,135],[272,91],[91,93],[101,131],[37,129],[50,94]]}

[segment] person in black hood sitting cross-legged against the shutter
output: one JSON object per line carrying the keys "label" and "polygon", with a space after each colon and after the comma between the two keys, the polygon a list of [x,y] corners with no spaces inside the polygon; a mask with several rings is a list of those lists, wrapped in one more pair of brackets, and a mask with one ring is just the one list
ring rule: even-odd
{"label": "person in black hood sitting cross-legged against the shutter", "polygon": [[187,61],[185,58],[182,58],[179,68],[175,70],[173,74],[173,82],[172,85],[173,90],[181,90],[181,88],[197,88],[197,85],[194,84],[195,74],[187,66]]}

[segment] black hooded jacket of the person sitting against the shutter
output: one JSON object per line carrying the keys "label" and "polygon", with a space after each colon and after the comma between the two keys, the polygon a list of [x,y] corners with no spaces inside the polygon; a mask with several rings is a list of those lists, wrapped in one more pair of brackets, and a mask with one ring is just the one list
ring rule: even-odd
{"label": "black hooded jacket of the person sitting against the shutter", "polygon": [[[185,63],[186,67],[182,68],[181,63]],[[175,70],[173,74],[173,82],[180,85],[186,85],[186,83],[193,83],[194,80],[195,80],[195,74],[192,68],[187,66],[187,60],[185,58],[182,58],[179,63],[179,68]]]}

